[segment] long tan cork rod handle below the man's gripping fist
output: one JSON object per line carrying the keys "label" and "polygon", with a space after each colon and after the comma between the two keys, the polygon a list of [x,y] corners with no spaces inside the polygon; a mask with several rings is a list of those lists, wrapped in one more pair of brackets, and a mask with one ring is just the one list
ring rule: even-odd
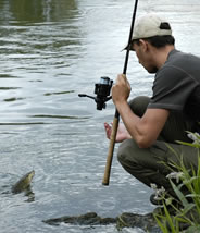
{"label": "long tan cork rod handle below the man's gripping fist", "polygon": [[113,159],[113,152],[114,152],[114,144],[115,144],[115,138],[116,138],[116,132],[118,128],[118,120],[120,120],[120,118],[117,116],[117,114],[115,114],[115,116],[113,119],[112,133],[111,133],[109,151],[108,151],[107,163],[105,163],[105,169],[104,169],[104,176],[102,180],[103,185],[109,185],[109,181],[110,181],[111,165],[112,165],[112,159]]}

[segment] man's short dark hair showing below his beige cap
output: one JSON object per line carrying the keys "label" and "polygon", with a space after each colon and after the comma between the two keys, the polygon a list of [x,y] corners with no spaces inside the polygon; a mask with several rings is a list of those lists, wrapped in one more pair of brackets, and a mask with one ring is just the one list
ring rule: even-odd
{"label": "man's short dark hair showing below his beige cap", "polygon": [[[153,47],[155,48],[162,48],[165,47],[166,45],[173,45],[175,44],[175,38],[173,36],[152,36],[149,38],[141,38],[143,40],[147,40],[148,42],[150,42]],[[136,42],[137,45],[139,45],[139,39],[134,39],[132,41],[132,45]]]}

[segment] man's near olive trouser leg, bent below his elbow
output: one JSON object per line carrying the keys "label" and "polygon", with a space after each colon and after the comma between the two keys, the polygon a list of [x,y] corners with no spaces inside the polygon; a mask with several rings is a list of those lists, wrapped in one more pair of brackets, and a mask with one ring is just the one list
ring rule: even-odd
{"label": "man's near olive trouser leg, bent below his elbow", "polygon": [[193,147],[168,144],[175,151],[174,154],[164,142],[157,140],[153,146],[140,149],[134,139],[124,140],[118,148],[118,161],[122,167],[143,184],[150,186],[151,183],[158,187],[163,186],[171,195],[175,196],[174,191],[166,179],[172,172],[171,163],[180,163],[183,157],[187,169],[197,169],[198,149]]}

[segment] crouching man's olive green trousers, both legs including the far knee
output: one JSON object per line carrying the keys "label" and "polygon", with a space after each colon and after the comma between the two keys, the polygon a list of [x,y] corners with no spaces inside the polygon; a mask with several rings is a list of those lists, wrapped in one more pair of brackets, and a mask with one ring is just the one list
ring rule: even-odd
{"label": "crouching man's olive green trousers, both legs including the far knee", "polygon": [[[149,101],[148,97],[137,97],[129,105],[135,114],[142,116]],[[198,164],[198,149],[175,143],[175,140],[190,142],[186,131],[195,132],[196,125],[186,121],[180,113],[171,113],[158,140],[151,147],[141,149],[134,139],[126,139],[118,148],[118,161],[128,173],[143,184],[163,186],[174,196],[166,179],[166,175],[172,172],[171,163],[179,164],[183,158],[187,169],[191,167],[197,169]]]}

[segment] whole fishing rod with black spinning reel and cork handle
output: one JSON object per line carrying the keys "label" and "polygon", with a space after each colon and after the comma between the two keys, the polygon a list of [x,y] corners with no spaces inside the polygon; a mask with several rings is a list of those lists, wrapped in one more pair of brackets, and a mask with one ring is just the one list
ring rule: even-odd
{"label": "whole fishing rod with black spinning reel and cork handle", "polygon": [[[124,75],[126,75],[126,70],[127,70],[127,65],[128,65],[128,58],[129,58],[132,35],[134,32],[134,24],[135,24],[136,12],[137,12],[137,4],[138,4],[138,0],[135,0],[132,24],[130,24],[130,29],[129,29],[128,46],[126,48],[126,56],[125,56],[125,62],[124,62],[124,69],[123,69]],[[113,84],[113,81],[111,81],[107,76],[103,76],[100,78],[100,82],[95,85],[95,94],[97,95],[96,97],[88,96],[86,94],[78,94],[78,96],[88,97],[88,98],[93,99],[97,103],[97,110],[105,109],[105,106],[107,106],[105,102],[112,98],[112,96],[110,96],[112,84]],[[111,133],[109,151],[108,151],[107,163],[105,163],[105,169],[104,169],[104,176],[102,180],[103,185],[109,185],[111,165],[112,165],[112,159],[113,159],[113,152],[114,152],[114,145],[115,145],[115,139],[116,139],[116,132],[117,132],[117,127],[118,127],[118,121],[120,121],[120,113],[116,109],[114,119],[113,119],[112,133]]]}

